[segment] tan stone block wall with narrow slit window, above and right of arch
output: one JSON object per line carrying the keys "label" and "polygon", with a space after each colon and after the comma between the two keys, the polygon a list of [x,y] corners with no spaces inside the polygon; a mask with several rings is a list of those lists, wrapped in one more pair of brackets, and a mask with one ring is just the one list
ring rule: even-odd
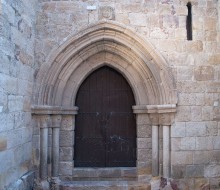
{"label": "tan stone block wall with narrow slit window, above and right of arch", "polygon": [[[150,41],[172,68],[178,111],[171,129],[171,177],[191,188],[220,181],[220,46],[216,0],[192,0],[193,40],[186,39],[187,0],[41,0],[36,63],[70,35],[98,20],[128,25]],[[87,10],[95,6],[95,10]],[[111,16],[102,13],[111,7]]]}

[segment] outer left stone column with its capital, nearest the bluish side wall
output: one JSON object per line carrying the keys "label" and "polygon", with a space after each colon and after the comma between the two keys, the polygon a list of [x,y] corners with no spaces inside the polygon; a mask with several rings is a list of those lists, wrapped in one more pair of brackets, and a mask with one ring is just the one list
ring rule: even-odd
{"label": "outer left stone column with its capital, nearest the bluish side wall", "polygon": [[47,179],[49,115],[40,116],[40,178]]}

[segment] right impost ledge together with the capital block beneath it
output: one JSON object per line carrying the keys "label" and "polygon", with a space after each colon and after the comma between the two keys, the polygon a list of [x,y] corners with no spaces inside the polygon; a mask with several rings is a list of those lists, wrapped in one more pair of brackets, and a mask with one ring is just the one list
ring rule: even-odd
{"label": "right impost ledge together with the capital block beneath it", "polygon": [[175,104],[133,106],[135,114],[149,114],[152,125],[171,125],[176,113]]}

